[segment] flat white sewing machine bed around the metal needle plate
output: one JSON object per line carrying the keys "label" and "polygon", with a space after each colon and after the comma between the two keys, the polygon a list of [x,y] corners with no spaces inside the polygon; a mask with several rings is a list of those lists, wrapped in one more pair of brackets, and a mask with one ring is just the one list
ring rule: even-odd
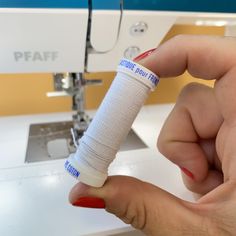
{"label": "flat white sewing machine bed around the metal needle plate", "polygon": [[[109,173],[134,176],[194,201],[179,169],[156,149],[158,133],[172,107],[142,108],[133,128],[149,148],[118,153]],[[70,119],[71,113],[0,118],[0,235],[111,235],[130,229],[105,210],[68,203],[68,192],[76,180],[64,171],[64,160],[24,162],[29,124]]]}

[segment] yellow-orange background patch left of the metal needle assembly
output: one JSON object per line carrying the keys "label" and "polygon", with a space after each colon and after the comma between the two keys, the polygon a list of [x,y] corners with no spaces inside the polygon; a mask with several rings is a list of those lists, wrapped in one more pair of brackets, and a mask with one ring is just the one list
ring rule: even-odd
{"label": "yellow-orange background patch left of the metal needle assembly", "polygon": [[0,76],[0,115],[20,115],[70,110],[70,98],[48,98],[51,74]]}

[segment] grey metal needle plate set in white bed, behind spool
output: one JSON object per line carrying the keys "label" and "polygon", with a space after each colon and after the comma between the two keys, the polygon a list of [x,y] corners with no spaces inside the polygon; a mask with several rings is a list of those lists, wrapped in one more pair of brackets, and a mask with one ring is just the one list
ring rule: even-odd
{"label": "grey metal needle plate set in white bed, behind spool", "polygon": [[[76,151],[71,128],[74,122],[57,122],[30,125],[28,147],[25,161],[27,163],[63,159]],[[77,130],[77,140],[83,135]],[[120,151],[146,148],[147,145],[131,130],[122,143]]]}

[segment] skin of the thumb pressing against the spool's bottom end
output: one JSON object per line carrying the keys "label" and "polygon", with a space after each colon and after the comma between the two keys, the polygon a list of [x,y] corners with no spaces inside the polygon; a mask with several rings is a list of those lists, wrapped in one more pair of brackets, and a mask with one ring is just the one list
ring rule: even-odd
{"label": "skin of the thumb pressing against the spool's bottom end", "polygon": [[78,183],[69,199],[76,205],[85,196],[103,199],[108,212],[147,235],[190,235],[208,228],[199,204],[185,202],[133,177],[111,176],[101,188]]}

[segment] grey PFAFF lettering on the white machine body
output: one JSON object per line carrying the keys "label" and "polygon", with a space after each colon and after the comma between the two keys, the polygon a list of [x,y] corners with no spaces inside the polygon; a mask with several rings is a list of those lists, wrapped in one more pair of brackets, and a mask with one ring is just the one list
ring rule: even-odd
{"label": "grey PFAFF lettering on the white machine body", "polygon": [[58,58],[57,51],[17,51],[14,52],[16,62],[48,62],[55,61]]}

